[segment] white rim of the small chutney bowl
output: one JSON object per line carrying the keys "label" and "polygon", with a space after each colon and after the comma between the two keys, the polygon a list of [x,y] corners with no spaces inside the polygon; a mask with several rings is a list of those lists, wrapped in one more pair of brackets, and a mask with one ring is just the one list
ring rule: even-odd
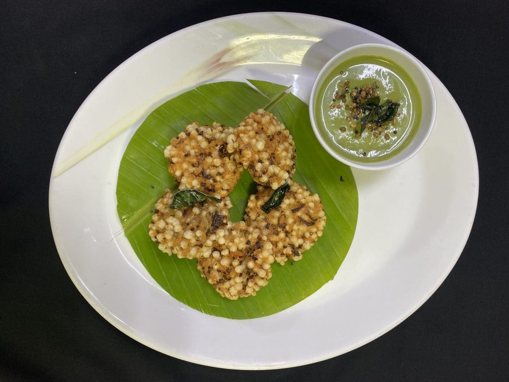
{"label": "white rim of the small chutney bowl", "polygon": [[[406,56],[414,64],[415,69],[417,69],[421,73],[423,79],[425,80],[425,83],[426,83],[427,88],[428,88],[427,89],[427,93],[429,93],[429,95],[431,96],[431,101],[432,101],[431,103],[432,104],[431,104],[431,119],[430,119],[429,125],[426,126],[426,133],[422,137],[420,142],[417,145],[415,145],[413,150],[410,151],[410,153],[402,155],[403,151],[401,151],[400,153],[396,154],[395,156],[393,156],[391,158],[388,158],[388,159],[385,159],[385,160],[376,161],[376,162],[366,162],[366,163],[363,163],[363,162],[358,162],[358,161],[346,158],[343,155],[338,154],[336,151],[332,150],[331,147],[329,147],[329,145],[326,142],[325,138],[318,131],[317,120],[316,120],[316,115],[315,115],[315,104],[316,104],[315,98],[316,98],[316,94],[318,93],[318,88],[319,88],[318,85],[321,85],[321,80],[325,77],[324,73],[326,73],[330,69],[330,66],[332,64],[337,63],[338,58],[344,56],[347,53],[350,53],[351,51],[355,51],[355,50],[362,49],[362,48],[369,48],[369,47],[377,48],[377,49],[386,49],[386,50],[395,52],[397,54],[400,54],[402,56]],[[382,57],[383,57],[383,55],[382,55]],[[419,90],[420,90],[420,88],[419,88]],[[419,93],[420,93],[420,96],[421,96],[421,99],[422,99],[423,98],[422,97],[422,92],[419,92]],[[311,92],[310,92],[310,95],[309,95],[309,105],[308,105],[308,107],[309,107],[309,119],[310,119],[310,122],[311,122],[311,126],[313,128],[313,132],[315,133],[315,136],[317,137],[317,139],[320,142],[320,144],[322,145],[322,147],[330,155],[332,155],[335,159],[345,163],[346,165],[351,166],[351,167],[355,167],[355,168],[358,168],[358,169],[362,169],[362,170],[385,170],[385,169],[389,169],[389,168],[392,168],[392,167],[395,167],[395,166],[399,166],[402,163],[406,162],[407,160],[412,158],[415,154],[417,154],[417,152],[422,148],[422,146],[424,146],[424,144],[426,143],[426,141],[428,140],[428,138],[429,138],[429,136],[431,134],[431,131],[433,130],[433,127],[435,126],[435,119],[436,119],[436,94],[435,94],[435,89],[433,88],[433,85],[431,83],[431,78],[430,78],[427,70],[424,68],[422,63],[415,56],[413,56],[411,53],[407,52],[406,50],[404,50],[402,48],[398,48],[398,47],[391,46],[391,45],[378,44],[378,43],[367,43],[367,44],[354,45],[354,46],[348,47],[348,48],[346,48],[344,50],[341,50],[340,52],[334,54],[334,56],[332,58],[330,58],[324,64],[324,66],[317,73],[317,76],[315,77],[315,80],[313,81],[313,85],[311,87]],[[421,128],[422,128],[422,126],[419,126],[419,129],[421,129]],[[399,156],[401,156],[401,158],[399,158]],[[398,158],[398,160],[394,160],[395,158]],[[388,163],[387,161],[390,161],[391,159],[393,161]]]}

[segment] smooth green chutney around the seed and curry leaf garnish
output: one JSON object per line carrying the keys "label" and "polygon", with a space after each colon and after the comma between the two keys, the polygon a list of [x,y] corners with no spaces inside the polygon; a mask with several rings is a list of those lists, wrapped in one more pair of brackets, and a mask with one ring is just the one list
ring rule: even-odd
{"label": "smooth green chutney around the seed and curry leaf garnish", "polygon": [[[396,124],[388,124],[389,127],[382,133],[386,133],[388,139],[387,135],[375,138],[376,134],[368,129],[355,138],[350,124],[357,124],[360,131],[360,118],[364,114],[358,120],[348,121],[350,113],[345,110],[345,103],[340,100],[333,102],[334,94],[342,91],[341,85],[347,80],[350,81],[350,90],[376,81],[381,102],[391,99],[400,103]],[[332,108],[331,104],[337,103],[342,107]],[[392,61],[375,56],[359,56],[338,65],[325,78],[315,106],[318,130],[329,142],[330,148],[339,155],[360,162],[382,161],[401,152],[412,141],[421,114],[421,99],[412,78]],[[345,130],[344,127],[346,131],[341,131]]]}

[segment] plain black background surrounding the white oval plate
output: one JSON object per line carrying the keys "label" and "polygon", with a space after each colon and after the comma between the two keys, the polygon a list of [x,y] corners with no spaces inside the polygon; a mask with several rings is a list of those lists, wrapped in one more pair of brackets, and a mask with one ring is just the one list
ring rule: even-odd
{"label": "plain black background surrounding the white oval plate", "polygon": [[[197,22],[275,10],[360,25],[442,80],[477,150],[477,214],[442,286],[381,338],[292,369],[214,369],[137,343],[79,294],[52,239],[50,170],[81,102],[136,51]],[[0,380],[509,380],[508,29],[505,1],[1,2]]]}

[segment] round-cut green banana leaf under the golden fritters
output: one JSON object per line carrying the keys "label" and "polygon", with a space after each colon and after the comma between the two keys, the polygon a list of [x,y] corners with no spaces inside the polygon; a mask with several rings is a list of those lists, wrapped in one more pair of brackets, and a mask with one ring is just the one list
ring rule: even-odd
{"label": "round-cut green banana leaf under the golden fritters", "polygon": [[[154,110],[134,133],[122,157],[117,183],[117,210],[124,234],[154,280],[169,294],[203,313],[233,319],[267,316],[287,309],[334,278],[352,243],[358,197],[350,168],[332,158],[316,139],[307,105],[288,87],[265,81],[206,84]],[[294,180],[318,193],[327,224],[321,238],[300,261],[272,265],[272,278],[256,296],[230,301],[221,297],[196,269],[196,260],[179,259],[158,250],[148,235],[155,202],[166,188],[176,189],[167,170],[164,148],[194,121],[237,126],[250,112],[266,108],[285,124],[295,140]],[[243,219],[256,184],[244,171],[230,194],[231,220]],[[168,298],[170,298],[168,296]]]}

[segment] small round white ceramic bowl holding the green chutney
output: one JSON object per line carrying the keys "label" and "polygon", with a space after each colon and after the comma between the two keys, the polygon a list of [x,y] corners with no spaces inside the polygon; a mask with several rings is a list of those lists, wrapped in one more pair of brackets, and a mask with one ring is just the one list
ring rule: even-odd
{"label": "small round white ceramic bowl holding the green chutney", "polygon": [[[413,139],[408,142],[405,148],[398,154],[389,157],[385,160],[379,160],[376,162],[363,162],[361,160],[352,160],[347,158],[337,150],[334,150],[335,144],[331,142],[329,137],[326,137],[320,132],[318,128],[319,123],[323,123],[317,119],[315,115],[315,108],[319,101],[319,90],[323,85],[325,78],[342,62],[359,56],[376,56],[386,58],[393,63],[403,68],[414,81],[417,91],[421,98],[421,110],[422,116]],[[313,84],[311,95],[309,99],[309,117],[311,119],[311,125],[316,137],[320,141],[321,145],[337,160],[346,163],[348,166],[356,167],[365,170],[384,170],[394,166],[401,165],[401,163],[407,161],[414,156],[420,148],[425,144],[428,139],[430,132],[435,123],[436,113],[436,100],[435,92],[431,84],[430,77],[426,70],[420,65],[419,61],[406,51],[383,44],[361,44],[351,48],[345,49],[337,53],[332,57],[325,66],[320,70]]]}

